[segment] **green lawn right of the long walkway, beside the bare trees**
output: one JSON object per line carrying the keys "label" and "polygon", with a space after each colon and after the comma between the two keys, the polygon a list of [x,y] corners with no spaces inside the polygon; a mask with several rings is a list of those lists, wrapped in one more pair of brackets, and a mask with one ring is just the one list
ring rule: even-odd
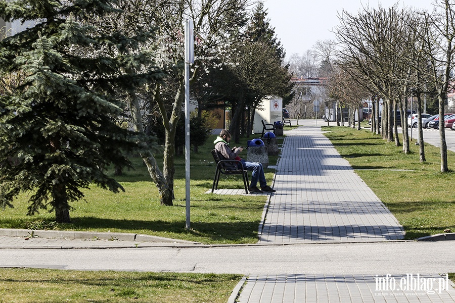
{"label": "green lawn right of the long walkway, beside the bare trees", "polygon": [[[362,129],[324,127],[325,135],[355,172],[370,186],[403,225],[406,239],[455,232],[453,171],[440,173],[439,148],[425,144],[426,162],[419,161],[419,146],[411,154]],[[455,169],[455,153],[447,151],[449,169]]]}

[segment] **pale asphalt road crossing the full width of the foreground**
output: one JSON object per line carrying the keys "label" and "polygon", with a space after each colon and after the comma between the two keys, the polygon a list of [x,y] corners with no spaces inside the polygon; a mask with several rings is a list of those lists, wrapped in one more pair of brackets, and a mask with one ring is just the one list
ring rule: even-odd
{"label": "pale asphalt road crossing the full width of the foreground", "polygon": [[0,267],[238,274],[455,272],[453,241],[117,249],[0,249]]}

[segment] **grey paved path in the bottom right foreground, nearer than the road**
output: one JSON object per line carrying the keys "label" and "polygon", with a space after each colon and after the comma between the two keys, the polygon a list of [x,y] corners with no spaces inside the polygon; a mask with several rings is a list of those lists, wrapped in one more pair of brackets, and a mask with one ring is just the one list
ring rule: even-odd
{"label": "grey paved path in the bottom right foreground, nearer than the road", "polygon": [[[455,289],[450,282],[446,283],[445,276],[425,274],[420,279],[427,285],[433,281],[432,288],[416,289],[415,285],[399,284],[401,279],[407,280],[407,275],[393,275],[397,281],[396,287],[390,289],[390,282],[378,284],[380,278],[387,275],[312,275],[312,274],[283,274],[276,276],[251,276],[244,286],[239,303],[269,303],[269,302],[455,302]],[[442,281],[442,286],[439,281]],[[411,286],[411,287],[410,287]],[[408,290],[406,290],[406,287]],[[256,289],[257,288],[257,289]],[[414,290],[412,289],[414,288]],[[287,292],[286,290],[290,291]],[[292,293],[292,290],[294,293]],[[251,295],[253,293],[261,295]]]}

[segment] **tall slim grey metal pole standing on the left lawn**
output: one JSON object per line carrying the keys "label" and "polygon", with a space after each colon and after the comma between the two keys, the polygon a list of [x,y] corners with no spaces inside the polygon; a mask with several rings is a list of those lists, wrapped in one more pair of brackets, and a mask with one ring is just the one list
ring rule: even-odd
{"label": "tall slim grey metal pole standing on the left lawn", "polygon": [[190,229],[190,63],[194,63],[193,20],[185,20],[185,195],[186,224]]}

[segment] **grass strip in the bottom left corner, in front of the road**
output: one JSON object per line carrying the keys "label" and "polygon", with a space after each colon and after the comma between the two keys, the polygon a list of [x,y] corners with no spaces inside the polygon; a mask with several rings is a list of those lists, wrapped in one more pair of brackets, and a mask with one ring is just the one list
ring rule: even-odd
{"label": "grass strip in the bottom left corner, in front of the road", "polygon": [[226,302],[233,274],[0,269],[0,302]]}

